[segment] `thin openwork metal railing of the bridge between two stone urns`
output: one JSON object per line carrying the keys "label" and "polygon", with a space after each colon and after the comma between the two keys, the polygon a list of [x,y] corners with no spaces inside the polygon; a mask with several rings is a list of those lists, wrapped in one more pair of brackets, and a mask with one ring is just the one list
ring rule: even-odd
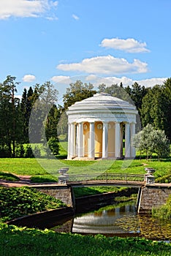
{"label": "thin openwork metal railing of the bridge between two stone urns", "polygon": [[129,173],[69,174],[68,181],[144,181],[144,175]]}

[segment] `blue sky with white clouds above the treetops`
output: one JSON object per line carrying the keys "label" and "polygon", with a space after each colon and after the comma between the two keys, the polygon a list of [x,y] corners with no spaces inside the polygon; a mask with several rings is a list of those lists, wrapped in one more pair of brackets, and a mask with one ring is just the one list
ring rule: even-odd
{"label": "blue sky with white clouds above the treetops", "polygon": [[[171,0],[0,0],[0,83],[162,84],[170,78]],[[96,89],[96,88],[95,88]]]}

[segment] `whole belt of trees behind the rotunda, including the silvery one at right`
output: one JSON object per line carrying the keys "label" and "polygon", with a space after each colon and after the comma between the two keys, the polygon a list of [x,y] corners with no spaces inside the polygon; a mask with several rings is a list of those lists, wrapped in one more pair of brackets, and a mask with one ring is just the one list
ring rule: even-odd
{"label": "whole belt of trees behind the rotunda, including the silvery one at right", "polygon": [[[29,132],[34,134],[35,143],[44,141],[46,146],[57,152],[58,137],[64,135],[61,138],[66,138],[67,135],[65,110],[97,92],[105,92],[134,104],[143,128],[135,136],[134,145],[148,157],[153,152],[159,158],[168,155],[168,139],[171,139],[171,78],[153,88],[145,88],[136,82],[132,86],[122,83],[119,86],[107,86],[102,83],[94,89],[93,84],[77,80],[66,88],[64,106],[58,105],[58,90],[50,81],[23,89],[21,99],[16,97],[18,85],[16,78],[11,75],[0,83],[0,157],[32,156],[29,145],[26,150],[23,148],[24,143],[29,143]],[[32,127],[29,129],[31,121]]]}

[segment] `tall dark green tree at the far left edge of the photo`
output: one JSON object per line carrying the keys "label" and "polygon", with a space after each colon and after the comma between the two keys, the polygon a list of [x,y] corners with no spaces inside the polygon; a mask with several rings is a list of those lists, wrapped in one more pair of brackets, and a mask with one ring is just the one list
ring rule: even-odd
{"label": "tall dark green tree at the far left edge of the photo", "polygon": [[20,132],[20,105],[15,97],[17,92],[15,77],[10,75],[0,84],[0,124],[1,146],[8,147],[9,157],[15,157],[15,143],[22,138]]}

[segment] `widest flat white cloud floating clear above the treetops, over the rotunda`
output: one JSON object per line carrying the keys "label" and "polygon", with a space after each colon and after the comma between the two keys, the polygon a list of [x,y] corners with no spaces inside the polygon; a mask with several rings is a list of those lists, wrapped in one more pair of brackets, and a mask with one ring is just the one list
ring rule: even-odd
{"label": "widest flat white cloud floating clear above the treetops, over the rotunda", "polygon": [[58,64],[57,69],[105,75],[142,73],[148,71],[145,62],[134,59],[133,63],[129,63],[126,59],[115,58],[111,55],[83,59],[80,63]]}

